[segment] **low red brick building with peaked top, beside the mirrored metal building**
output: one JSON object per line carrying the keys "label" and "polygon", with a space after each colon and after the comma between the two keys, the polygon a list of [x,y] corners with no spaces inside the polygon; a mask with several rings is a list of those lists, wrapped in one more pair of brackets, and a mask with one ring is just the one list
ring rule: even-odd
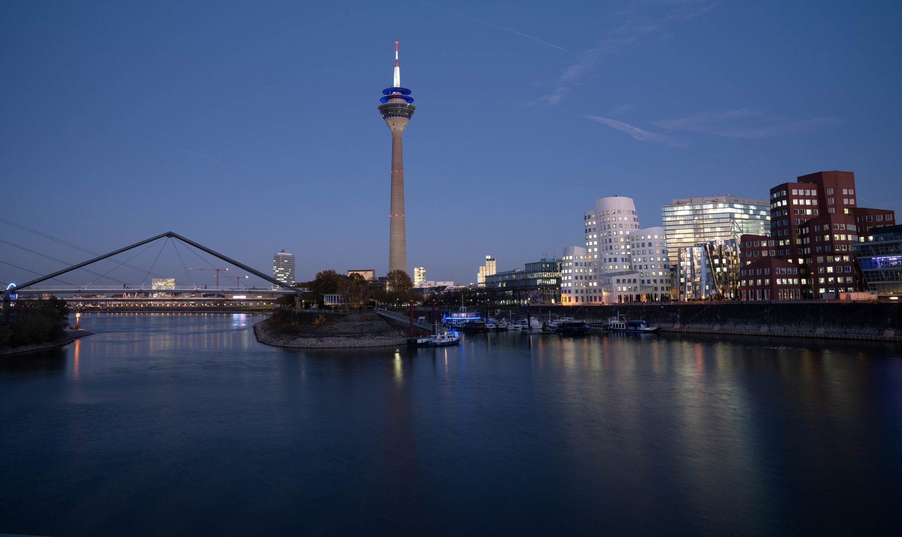
{"label": "low red brick building with peaked top, beside the mirrored metal building", "polygon": [[770,256],[759,257],[748,265],[743,263],[739,271],[739,296],[742,300],[799,300],[803,289],[809,287],[808,278],[799,274],[804,269]]}

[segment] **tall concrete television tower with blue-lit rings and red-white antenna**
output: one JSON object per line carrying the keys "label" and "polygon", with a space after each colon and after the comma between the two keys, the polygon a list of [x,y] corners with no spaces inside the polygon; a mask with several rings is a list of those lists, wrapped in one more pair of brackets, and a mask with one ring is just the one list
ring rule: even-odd
{"label": "tall concrete television tower with blue-lit rings and red-white antenna", "polygon": [[391,212],[389,213],[389,271],[407,272],[407,230],[404,225],[404,159],[400,137],[417,107],[410,89],[400,86],[398,41],[395,41],[394,83],[382,90],[379,113],[391,130]]}

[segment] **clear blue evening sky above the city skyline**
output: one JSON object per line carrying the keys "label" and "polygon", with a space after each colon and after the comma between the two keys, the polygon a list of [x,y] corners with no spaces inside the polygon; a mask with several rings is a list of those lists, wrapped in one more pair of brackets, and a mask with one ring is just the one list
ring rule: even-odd
{"label": "clear blue evening sky above the city skyline", "polygon": [[[651,226],[676,197],[842,169],[860,205],[902,213],[900,36],[902,5],[877,1],[5,2],[2,217],[88,250],[174,231],[266,273],[284,248],[299,280],[382,275],[394,41],[418,106],[409,268],[428,279],[560,255],[603,196]],[[0,259],[63,266],[2,242]],[[170,248],[161,271],[187,279]]]}

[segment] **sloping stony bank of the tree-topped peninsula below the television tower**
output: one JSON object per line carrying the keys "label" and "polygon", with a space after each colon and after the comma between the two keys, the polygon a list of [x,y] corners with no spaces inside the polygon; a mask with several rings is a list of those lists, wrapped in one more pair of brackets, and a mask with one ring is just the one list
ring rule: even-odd
{"label": "sloping stony bank of the tree-topped peninsula below the television tower", "polygon": [[270,317],[254,324],[253,334],[265,345],[296,349],[386,347],[407,343],[403,329],[373,313],[321,316],[299,313],[277,319],[275,323]]}

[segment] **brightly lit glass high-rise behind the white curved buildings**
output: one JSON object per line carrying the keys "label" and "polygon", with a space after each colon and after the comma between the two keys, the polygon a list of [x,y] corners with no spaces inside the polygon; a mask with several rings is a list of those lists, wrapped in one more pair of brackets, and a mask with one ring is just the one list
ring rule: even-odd
{"label": "brightly lit glass high-rise behind the white curved buildings", "polygon": [[742,234],[770,231],[767,200],[726,196],[688,197],[661,205],[667,248],[692,248],[698,242],[739,239]]}

